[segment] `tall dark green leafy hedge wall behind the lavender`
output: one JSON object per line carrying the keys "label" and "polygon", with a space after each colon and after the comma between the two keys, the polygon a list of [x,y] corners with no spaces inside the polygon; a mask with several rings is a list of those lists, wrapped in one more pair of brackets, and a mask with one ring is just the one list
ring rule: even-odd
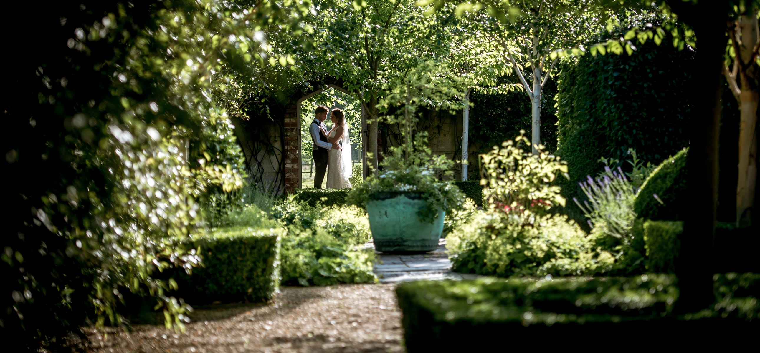
{"label": "tall dark green leafy hedge wall behind the lavender", "polygon": [[[632,27],[661,23],[652,16],[631,17],[621,27],[599,33],[618,38]],[[578,182],[603,168],[602,157],[623,160],[635,149],[642,163],[657,163],[688,144],[692,109],[693,53],[647,42],[632,55],[583,55],[563,59],[555,97],[557,155],[568,162],[569,180],[558,180],[564,197],[582,195]],[[621,165],[632,172],[629,165]],[[575,204],[565,210],[581,220]]]}

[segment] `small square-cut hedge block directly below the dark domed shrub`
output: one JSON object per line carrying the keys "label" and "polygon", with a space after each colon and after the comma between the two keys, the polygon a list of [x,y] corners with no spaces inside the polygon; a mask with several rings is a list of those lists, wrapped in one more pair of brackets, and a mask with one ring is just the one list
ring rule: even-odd
{"label": "small square-cut hedge block directly below the dark domed shrub", "polygon": [[683,232],[683,222],[644,222],[644,244],[647,249],[648,270],[657,273],[675,273],[676,261],[681,251],[678,236]]}

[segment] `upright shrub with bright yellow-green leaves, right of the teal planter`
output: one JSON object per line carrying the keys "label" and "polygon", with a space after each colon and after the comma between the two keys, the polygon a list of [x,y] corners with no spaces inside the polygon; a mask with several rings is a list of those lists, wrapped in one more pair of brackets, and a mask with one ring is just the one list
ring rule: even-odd
{"label": "upright shrub with bright yellow-green leaves, right of the teal planter", "polygon": [[501,148],[495,146],[480,156],[484,177],[480,184],[485,187],[483,197],[490,210],[515,213],[529,223],[531,217],[546,214],[552,206],[565,206],[560,188],[550,183],[557,175],[566,177],[568,166],[559,157],[544,152],[541,145],[536,155],[524,151],[524,132],[520,131],[515,141],[505,141]]}

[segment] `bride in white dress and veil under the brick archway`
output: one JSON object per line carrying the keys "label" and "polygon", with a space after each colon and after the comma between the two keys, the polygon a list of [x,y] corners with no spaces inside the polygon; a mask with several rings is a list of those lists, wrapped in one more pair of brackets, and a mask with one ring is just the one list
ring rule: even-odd
{"label": "bride in white dress and veil under the brick archway", "polygon": [[340,144],[340,150],[330,150],[328,156],[328,182],[327,188],[343,189],[350,188],[351,182],[351,143],[348,140],[348,124],[346,117],[340,108],[330,112],[330,121],[333,128],[326,133],[330,143]]}

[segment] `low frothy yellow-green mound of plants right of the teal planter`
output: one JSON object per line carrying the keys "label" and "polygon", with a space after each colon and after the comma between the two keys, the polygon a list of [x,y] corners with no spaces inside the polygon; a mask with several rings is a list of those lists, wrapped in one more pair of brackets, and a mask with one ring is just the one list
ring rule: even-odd
{"label": "low frothy yellow-green mound of plants right of the teal planter", "polygon": [[477,215],[448,235],[447,247],[454,271],[489,276],[580,275],[614,263],[562,215],[537,217],[534,225],[503,213]]}

